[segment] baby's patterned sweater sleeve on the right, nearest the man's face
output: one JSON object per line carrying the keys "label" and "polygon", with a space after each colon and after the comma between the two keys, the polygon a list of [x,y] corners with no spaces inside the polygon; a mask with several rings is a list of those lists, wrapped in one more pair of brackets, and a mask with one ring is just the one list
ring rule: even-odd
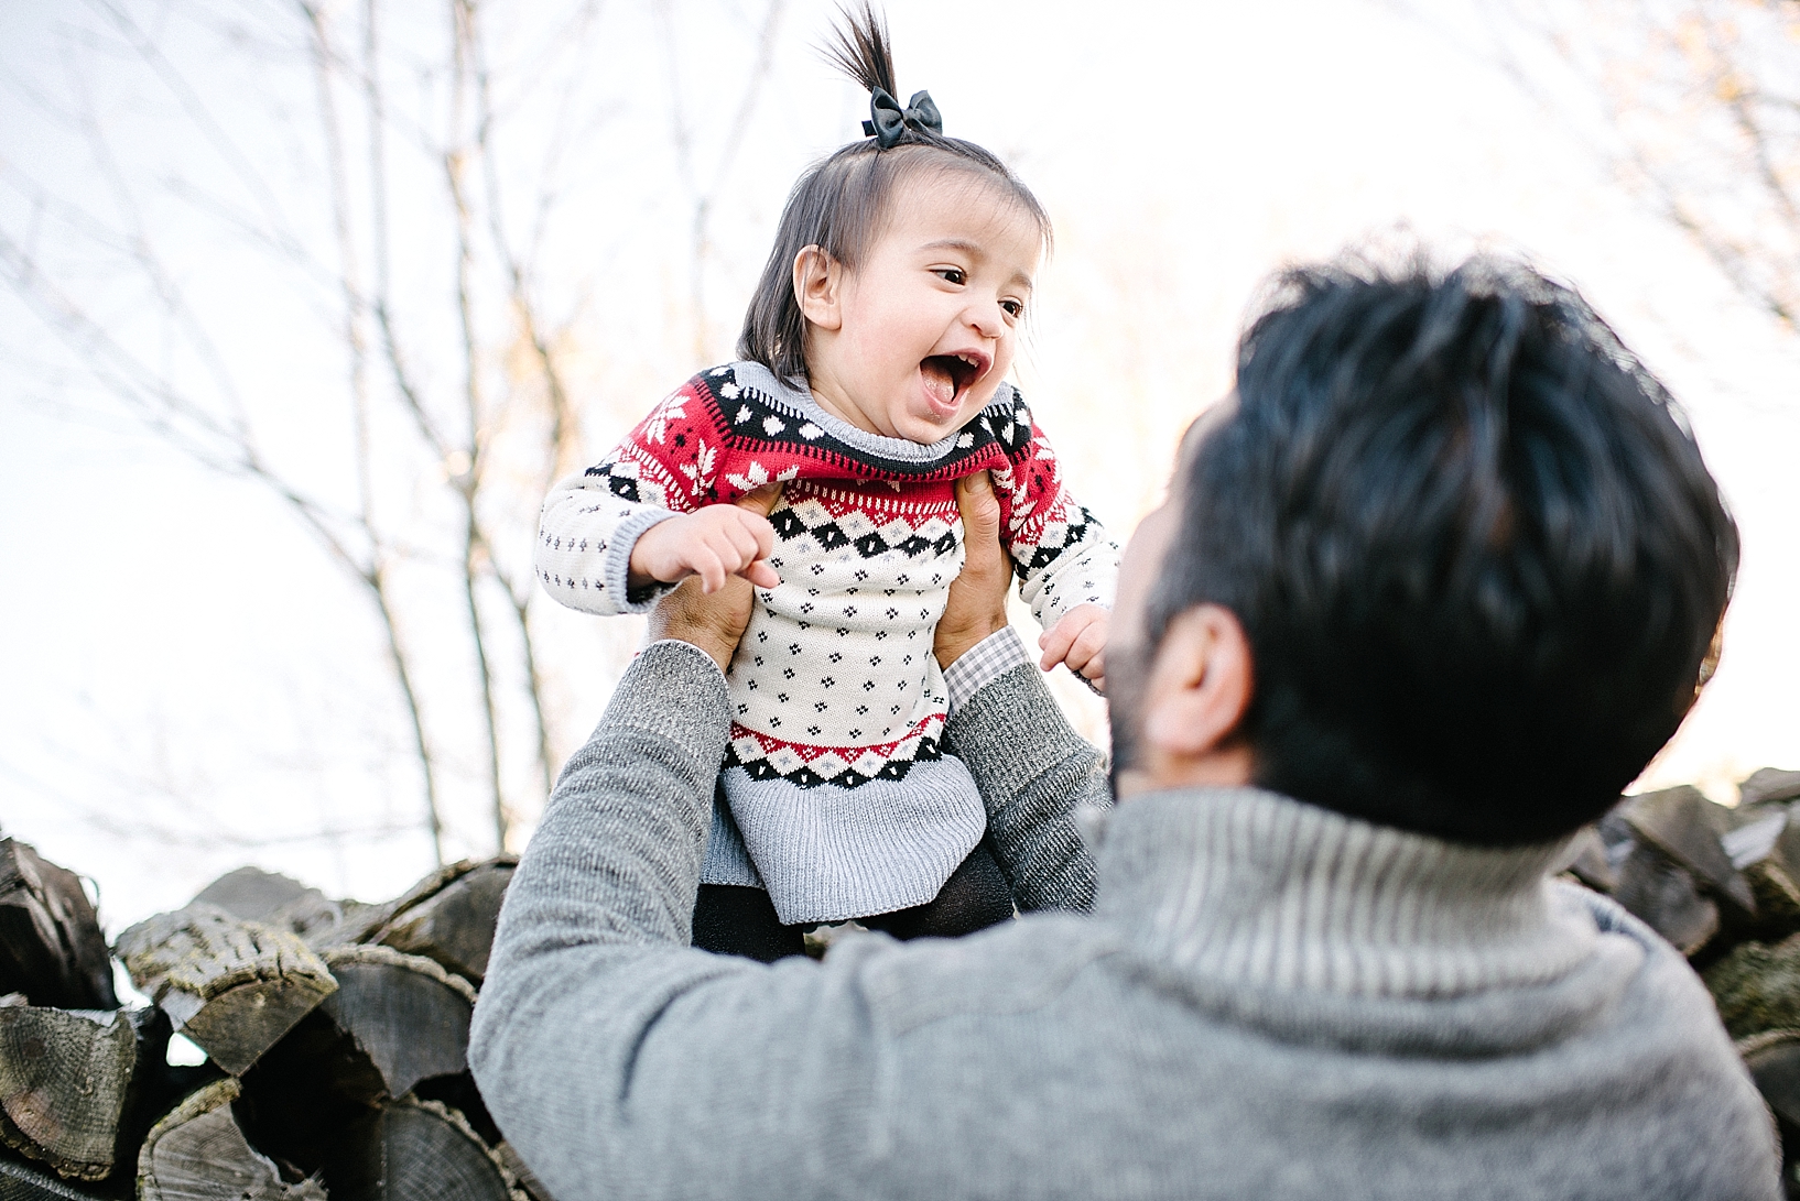
{"label": "baby's patterned sweater sleeve on the right, nearest the man's face", "polygon": [[1024,449],[994,469],[1001,502],[1001,541],[1019,572],[1019,595],[1049,629],[1078,604],[1112,608],[1120,548],[1100,518],[1062,485],[1057,451],[1031,424]]}

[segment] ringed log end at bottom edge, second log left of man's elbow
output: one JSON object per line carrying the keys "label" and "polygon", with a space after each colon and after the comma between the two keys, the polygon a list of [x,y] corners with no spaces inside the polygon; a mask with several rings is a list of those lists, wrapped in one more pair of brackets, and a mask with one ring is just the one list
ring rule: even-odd
{"label": "ringed log end at bottom edge, second log left of man's elbow", "polygon": [[140,1201],[326,1201],[315,1179],[286,1181],[243,1136],[238,1081],[200,1090],[158,1122],[137,1158]]}

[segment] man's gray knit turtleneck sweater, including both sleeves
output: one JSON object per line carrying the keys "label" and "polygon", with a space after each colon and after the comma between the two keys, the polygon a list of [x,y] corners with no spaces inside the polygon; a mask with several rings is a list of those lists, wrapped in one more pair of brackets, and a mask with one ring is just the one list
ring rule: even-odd
{"label": "man's gray knit turtleneck sweater, including both sleeves", "polygon": [[[470,1061],[558,1201],[1778,1196],[1706,992],[1561,845],[1170,791],[1107,816],[1091,915],[689,949],[725,714],[644,651],[508,894]],[[1105,786],[1035,669],[949,735],[1021,908],[1084,908]]]}

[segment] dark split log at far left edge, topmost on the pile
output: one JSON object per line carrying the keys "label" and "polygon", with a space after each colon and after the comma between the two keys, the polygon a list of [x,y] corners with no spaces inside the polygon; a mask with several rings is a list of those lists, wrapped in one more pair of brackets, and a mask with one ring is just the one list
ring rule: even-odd
{"label": "dark split log at far left edge, topmost on the pile", "polygon": [[11,838],[0,840],[0,992],[54,1009],[119,1009],[106,935],[81,879]]}

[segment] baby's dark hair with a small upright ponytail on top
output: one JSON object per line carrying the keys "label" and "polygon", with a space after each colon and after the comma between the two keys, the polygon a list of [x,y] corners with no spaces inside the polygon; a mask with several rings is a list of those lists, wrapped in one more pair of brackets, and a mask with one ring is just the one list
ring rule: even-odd
{"label": "baby's dark hair with a small upright ponytail on top", "polygon": [[[869,93],[895,92],[895,63],[887,23],[864,0],[859,9],[841,9],[842,23],[824,47],[824,58]],[[911,111],[911,110],[909,110]],[[880,236],[895,187],[925,171],[967,174],[997,187],[1037,223],[1049,246],[1049,214],[1044,205],[994,153],[947,138],[923,122],[907,119],[887,147],[868,137],[832,151],[799,178],[781,210],[776,245],[763,277],[743,315],[738,358],[761,363],[781,379],[806,374],[806,318],[794,297],[794,259],[806,246],[819,246],[855,271],[869,245]]]}

